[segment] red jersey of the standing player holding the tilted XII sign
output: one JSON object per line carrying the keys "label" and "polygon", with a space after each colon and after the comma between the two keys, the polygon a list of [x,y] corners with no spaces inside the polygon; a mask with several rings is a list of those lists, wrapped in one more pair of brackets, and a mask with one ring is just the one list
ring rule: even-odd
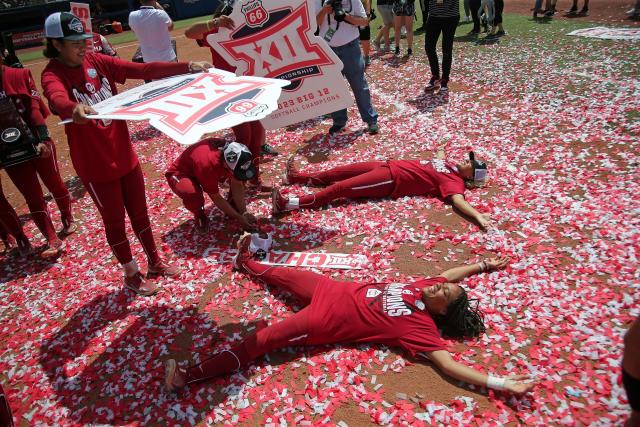
{"label": "red jersey of the standing player holding the tilted XII sign", "polygon": [[[71,118],[78,103],[94,105],[118,93],[116,83],[129,78],[160,79],[184,74],[185,62],[137,64],[87,52],[80,67],[69,67],[52,59],[42,72],[44,95],[60,118]],[[131,172],[138,164],[127,122],[90,120],[65,125],[73,167],[85,182],[107,182]]]}

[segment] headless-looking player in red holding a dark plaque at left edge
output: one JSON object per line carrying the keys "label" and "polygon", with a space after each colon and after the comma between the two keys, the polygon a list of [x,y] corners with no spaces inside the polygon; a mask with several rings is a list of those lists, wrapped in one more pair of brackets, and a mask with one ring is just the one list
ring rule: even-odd
{"label": "headless-looking player in red holding a dark plaque at left edge", "polygon": [[56,156],[56,146],[49,136],[45,118],[49,110],[42,102],[31,76],[25,68],[11,68],[2,65],[0,70],[0,96],[7,97],[13,104],[19,117],[11,121],[24,121],[39,141],[40,156],[6,167],[7,175],[25,198],[33,221],[47,239],[47,248],[41,252],[44,258],[56,257],[63,249],[51,221],[51,216],[44,199],[38,177],[53,195],[62,220],[61,235],[68,235],[76,230],[71,214],[71,195],[60,176]]}

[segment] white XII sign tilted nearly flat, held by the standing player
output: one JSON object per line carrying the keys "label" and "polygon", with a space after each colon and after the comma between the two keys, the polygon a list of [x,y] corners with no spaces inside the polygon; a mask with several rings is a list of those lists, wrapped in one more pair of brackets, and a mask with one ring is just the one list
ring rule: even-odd
{"label": "white XII sign tilted nearly flat, held by the standing player", "polygon": [[[156,80],[92,105],[91,119],[149,120],[180,144],[259,120],[275,110],[286,80],[236,77],[222,70]],[[70,123],[65,120],[62,123]]]}

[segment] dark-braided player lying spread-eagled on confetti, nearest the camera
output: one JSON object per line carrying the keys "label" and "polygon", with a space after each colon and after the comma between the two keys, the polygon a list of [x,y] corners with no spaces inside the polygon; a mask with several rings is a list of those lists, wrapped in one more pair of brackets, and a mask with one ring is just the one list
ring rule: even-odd
{"label": "dark-braided player lying spread-eagled on confetti, nearest the camera", "polygon": [[533,388],[534,384],[522,381],[526,375],[494,377],[456,362],[438,334],[438,328],[452,338],[476,337],[484,332],[481,313],[471,307],[466,291],[457,282],[504,268],[508,258],[455,267],[413,283],[338,282],[309,271],[260,264],[249,251],[256,237],[240,240],[235,267],[290,292],[305,307],[187,369],[177,368],[176,361],[169,359],[165,366],[169,390],[229,374],[278,348],[361,342],[398,346],[412,356],[420,354],[446,375],[470,384],[512,393]]}

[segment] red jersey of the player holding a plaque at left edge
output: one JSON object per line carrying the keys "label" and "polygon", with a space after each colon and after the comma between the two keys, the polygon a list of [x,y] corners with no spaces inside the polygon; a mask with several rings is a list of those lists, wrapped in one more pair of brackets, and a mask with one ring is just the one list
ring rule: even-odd
{"label": "red jersey of the player holding a plaque at left edge", "polygon": [[46,126],[44,119],[49,110],[42,101],[33,81],[31,71],[26,68],[11,68],[2,65],[2,85],[0,97],[8,96],[13,100],[18,113],[29,127]]}

